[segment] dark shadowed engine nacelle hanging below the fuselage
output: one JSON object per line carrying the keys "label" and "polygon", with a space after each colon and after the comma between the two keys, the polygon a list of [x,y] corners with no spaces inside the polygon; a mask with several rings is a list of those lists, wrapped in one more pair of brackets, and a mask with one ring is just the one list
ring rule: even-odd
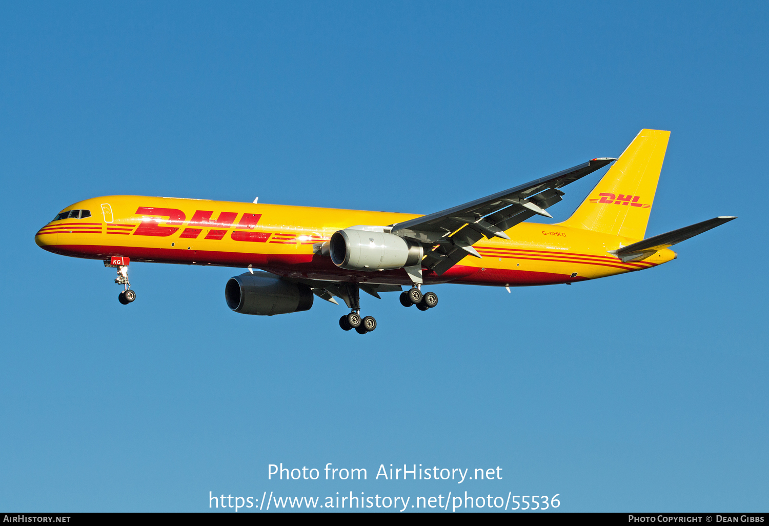
{"label": "dark shadowed engine nacelle hanging below the fuselage", "polygon": [[272,316],[308,311],[315,295],[307,285],[291,283],[269,272],[230,278],[225,286],[227,306],[241,314]]}

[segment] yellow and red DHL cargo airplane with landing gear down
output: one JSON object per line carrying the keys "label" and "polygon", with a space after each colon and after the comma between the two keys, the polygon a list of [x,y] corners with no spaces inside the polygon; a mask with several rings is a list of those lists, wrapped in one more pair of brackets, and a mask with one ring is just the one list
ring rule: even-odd
{"label": "yellow and red DHL cargo airplane with landing gear down", "polygon": [[[351,312],[345,331],[373,331],[361,318],[360,291],[375,298],[401,291],[405,307],[438,305],[424,285],[507,288],[576,281],[656,267],[676,258],[669,247],[731,221],[720,216],[644,238],[670,132],[644,129],[619,158],[593,158],[524,185],[429,215],[228,201],[110,195],[60,211],[35,234],[47,251],[99,259],[117,268],[119,301],[136,294],[131,261],[248,268],[225,285],[235,312],[306,311],[315,296]],[[612,165],[612,163],[614,163]],[[611,165],[566,221],[547,208],[561,188]],[[408,290],[403,291],[403,287]]]}

